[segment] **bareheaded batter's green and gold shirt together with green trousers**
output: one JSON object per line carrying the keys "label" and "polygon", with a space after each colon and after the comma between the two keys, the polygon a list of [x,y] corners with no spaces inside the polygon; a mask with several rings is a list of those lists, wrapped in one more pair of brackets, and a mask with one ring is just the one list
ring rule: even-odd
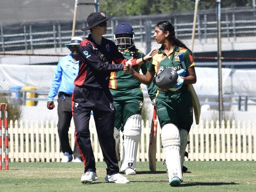
{"label": "bareheaded batter's green and gold shirt together with green trousers", "polygon": [[[152,52],[148,70],[157,73],[160,67],[173,68],[176,71],[182,69],[178,53],[182,53],[187,68],[195,65],[191,54],[186,48],[174,46],[173,52],[166,55],[161,47]],[[189,133],[193,123],[193,105],[191,94],[186,84],[183,84],[176,91],[162,90],[158,87],[156,109],[160,127],[172,123],[179,129],[185,129]]]}

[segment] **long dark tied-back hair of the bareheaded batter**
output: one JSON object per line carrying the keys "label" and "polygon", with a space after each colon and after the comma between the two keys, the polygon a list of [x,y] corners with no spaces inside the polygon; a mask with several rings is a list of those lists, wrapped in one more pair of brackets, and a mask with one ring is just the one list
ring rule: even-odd
{"label": "long dark tied-back hair of the bareheaded batter", "polygon": [[169,31],[169,36],[167,37],[168,41],[172,42],[175,46],[186,48],[192,55],[191,50],[187,48],[187,46],[183,42],[176,38],[173,24],[171,24],[169,21],[160,21],[158,22],[158,24],[156,24],[156,27],[163,31],[163,33]]}

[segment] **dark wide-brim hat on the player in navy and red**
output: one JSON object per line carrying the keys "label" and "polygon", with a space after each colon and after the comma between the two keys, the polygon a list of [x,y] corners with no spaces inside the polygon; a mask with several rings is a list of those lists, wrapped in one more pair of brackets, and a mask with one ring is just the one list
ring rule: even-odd
{"label": "dark wide-brim hat on the player in navy and red", "polygon": [[93,12],[87,17],[88,26],[86,28],[83,28],[82,31],[87,31],[104,21],[111,19],[112,17],[114,17],[114,15],[106,17],[104,13]]}

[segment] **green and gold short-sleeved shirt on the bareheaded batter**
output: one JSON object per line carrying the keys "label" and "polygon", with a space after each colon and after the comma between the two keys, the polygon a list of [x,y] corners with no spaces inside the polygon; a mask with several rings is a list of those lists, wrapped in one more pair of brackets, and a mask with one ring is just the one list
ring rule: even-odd
{"label": "green and gold short-sleeved shirt on the bareheaded batter", "polygon": [[[166,55],[161,46],[158,50],[152,52],[152,59],[149,61],[148,70],[155,71],[157,73],[160,67],[173,68],[176,71],[182,69],[182,64],[180,63],[178,53],[182,53],[184,63],[187,68],[195,65],[191,54],[186,48],[174,46],[173,52],[171,52],[169,55]],[[158,90],[161,89],[158,87]],[[187,90],[187,85],[183,84],[182,87],[177,91],[186,92]]]}

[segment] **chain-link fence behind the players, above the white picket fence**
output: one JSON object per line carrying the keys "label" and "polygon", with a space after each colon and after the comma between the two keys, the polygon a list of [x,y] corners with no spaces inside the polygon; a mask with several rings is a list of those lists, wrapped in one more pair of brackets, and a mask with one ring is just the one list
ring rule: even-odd
{"label": "chain-link fence behind the players, above the white picket fence", "polygon": [[[129,22],[135,45],[145,54],[159,47],[152,37],[161,20],[174,24],[176,37],[193,49],[201,103],[201,119],[219,115],[218,1],[198,1],[195,40],[192,42],[195,0],[78,0],[75,36],[85,38],[87,16],[96,10],[107,16],[106,38],[113,40],[115,26]],[[57,119],[46,109],[56,65],[69,54],[64,44],[72,34],[75,0],[0,0],[0,95],[20,105],[21,119]],[[96,5],[95,5],[96,3]],[[256,3],[255,0],[221,0],[221,70],[223,119],[254,120],[256,115]],[[143,86],[145,89],[145,86]],[[147,93],[145,94],[147,97]],[[0,96],[1,97],[1,96]],[[145,99],[144,113],[152,105]]]}

